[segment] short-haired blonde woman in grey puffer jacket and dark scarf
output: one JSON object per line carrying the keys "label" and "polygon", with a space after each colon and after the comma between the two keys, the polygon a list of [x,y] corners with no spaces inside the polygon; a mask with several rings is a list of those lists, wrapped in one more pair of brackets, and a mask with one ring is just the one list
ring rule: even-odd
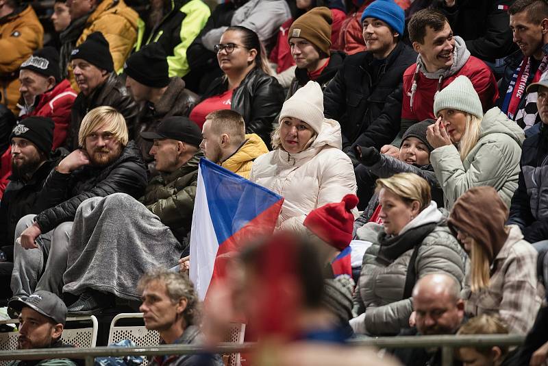
{"label": "short-haired blonde woman in grey puffer jacket and dark scarf", "polygon": [[364,255],[354,293],[354,332],[394,335],[409,326],[412,289],[427,273],[443,272],[459,283],[466,254],[447,228],[445,214],[432,201],[428,182],[413,173],[377,180],[383,224],[356,231],[373,243]]}

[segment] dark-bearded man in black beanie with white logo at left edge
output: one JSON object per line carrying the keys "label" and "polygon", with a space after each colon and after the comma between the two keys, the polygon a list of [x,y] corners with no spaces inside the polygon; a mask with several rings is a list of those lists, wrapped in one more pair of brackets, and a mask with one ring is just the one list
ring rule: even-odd
{"label": "dark-bearded man in black beanie with white logo at left edge", "polygon": [[[8,185],[0,201],[0,246],[3,246],[6,259],[12,262],[17,221],[25,215],[38,213],[46,208],[40,200],[43,197],[40,192],[47,175],[55,166],[53,160],[49,160],[53,143],[53,121],[45,117],[23,119],[13,129],[10,142],[12,173],[7,179]],[[11,268],[8,269],[5,276],[10,276],[11,272]],[[9,280],[5,280],[6,286],[8,282]]]}

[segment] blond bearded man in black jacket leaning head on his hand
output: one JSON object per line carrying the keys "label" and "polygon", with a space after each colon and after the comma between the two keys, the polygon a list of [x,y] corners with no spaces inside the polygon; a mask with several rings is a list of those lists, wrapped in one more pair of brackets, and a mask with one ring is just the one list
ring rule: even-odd
{"label": "blond bearded man in black jacket leaning head on his hand", "polygon": [[78,142],[82,149],[61,160],[45,182],[40,199],[49,208],[17,224],[11,282],[16,296],[35,289],[61,293],[72,221],[84,200],[117,192],[140,197],[147,185],[145,164],[114,108],[86,114]]}

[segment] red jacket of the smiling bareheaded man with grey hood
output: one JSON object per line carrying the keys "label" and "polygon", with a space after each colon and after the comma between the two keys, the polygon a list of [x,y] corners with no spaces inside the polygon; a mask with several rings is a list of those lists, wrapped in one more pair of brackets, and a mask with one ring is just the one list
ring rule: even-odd
{"label": "red jacket of the smiling bareheaded man with grey hood", "polygon": [[[403,73],[403,100],[401,102],[401,118],[413,121],[423,121],[434,116],[434,94],[438,88],[438,80],[427,79],[423,73],[419,73],[419,81],[413,99],[413,110],[411,110],[411,86],[413,84],[413,75],[416,70],[416,64],[409,66]],[[479,99],[482,101],[484,112],[495,106],[495,101],[499,97],[497,80],[489,67],[479,58],[470,56],[468,61],[454,75],[444,79],[441,89],[445,88],[459,75],[468,77]]]}

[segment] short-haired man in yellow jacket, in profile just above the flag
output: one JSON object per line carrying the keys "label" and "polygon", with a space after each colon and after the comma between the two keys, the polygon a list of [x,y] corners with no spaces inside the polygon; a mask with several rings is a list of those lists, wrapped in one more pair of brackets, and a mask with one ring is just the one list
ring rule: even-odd
{"label": "short-haired man in yellow jacket, in profile just above the flag", "polygon": [[253,160],[269,152],[258,134],[245,134],[242,115],[223,109],[206,116],[200,148],[206,158],[248,179]]}

